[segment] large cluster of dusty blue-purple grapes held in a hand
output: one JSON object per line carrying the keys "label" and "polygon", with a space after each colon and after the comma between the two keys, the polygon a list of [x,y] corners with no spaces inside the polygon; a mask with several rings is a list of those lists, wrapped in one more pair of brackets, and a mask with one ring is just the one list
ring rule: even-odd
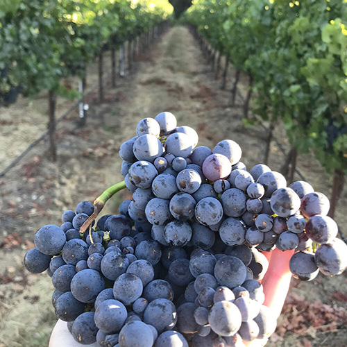
{"label": "large cluster of dusty blue-purple grapes held in a hand", "polygon": [[170,112],[142,119],[136,133],[119,150],[133,194],[119,214],[94,225],[95,206],[82,201],[61,226],[40,228],[24,257],[28,271],[52,278],[56,315],[79,343],[265,344],[277,317],[263,305],[264,252],[295,250],[289,267],[301,280],[346,269],[328,198],[309,183],[287,187],[264,164],[247,171],[230,139],[197,146]]}

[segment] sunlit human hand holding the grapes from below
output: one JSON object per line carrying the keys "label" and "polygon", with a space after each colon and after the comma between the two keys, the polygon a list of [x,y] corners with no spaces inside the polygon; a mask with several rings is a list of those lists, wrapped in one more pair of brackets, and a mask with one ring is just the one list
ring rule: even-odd
{"label": "sunlit human hand holding the grapes from below", "polygon": [[[269,269],[263,278],[265,301],[264,305],[273,310],[276,316],[280,315],[285,298],[288,294],[291,272],[289,270],[289,260],[294,251],[279,251],[277,248],[271,252],[263,253],[269,260]],[[250,342],[244,341],[246,347],[261,347],[266,344],[266,340],[255,339]],[[86,347],[96,347],[97,344],[87,345]],[[49,347],[81,347],[67,330],[67,323],[58,320],[51,334]],[[238,341],[237,347],[242,347]]]}

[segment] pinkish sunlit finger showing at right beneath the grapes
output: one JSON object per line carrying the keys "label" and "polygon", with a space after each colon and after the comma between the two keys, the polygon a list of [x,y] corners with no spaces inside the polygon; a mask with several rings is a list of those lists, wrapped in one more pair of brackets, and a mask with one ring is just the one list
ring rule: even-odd
{"label": "pinkish sunlit finger showing at right beneath the grapes", "polygon": [[280,251],[277,248],[271,252],[271,261],[262,285],[264,287],[264,305],[270,307],[276,316],[280,315],[291,281],[289,260],[293,251]]}

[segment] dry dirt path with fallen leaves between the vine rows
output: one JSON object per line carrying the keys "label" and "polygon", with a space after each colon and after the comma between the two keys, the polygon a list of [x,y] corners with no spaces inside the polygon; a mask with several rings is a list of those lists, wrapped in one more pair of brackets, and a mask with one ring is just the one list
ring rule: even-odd
{"label": "dry dirt path with fallen leaves between the vine rows", "polygon": [[[46,346],[56,321],[51,307],[53,287],[45,274],[33,276],[23,271],[22,257],[32,246],[37,228],[49,223],[59,225],[62,210],[74,208],[81,200],[93,201],[105,187],[121,180],[118,149],[135,135],[139,119],[171,111],[178,124],[198,131],[199,144],[213,147],[221,139],[234,139],[242,146],[242,161],[248,167],[262,162],[265,134],[242,126],[241,108],[228,108],[230,92],[220,91],[219,85],[187,28],[172,28],[149,53],[139,57],[135,71],[119,81],[117,88],[107,91],[105,103],[92,105],[85,128],[76,129],[76,115],[62,122],[56,164],[46,158],[46,144],[40,145],[0,180],[0,243],[4,240],[7,247],[0,248],[0,347]],[[246,88],[241,87],[243,91]],[[9,116],[6,119],[13,121],[15,128],[15,120]],[[36,128],[38,133],[40,127],[42,124]],[[10,153],[8,148],[0,152],[0,158]],[[276,147],[271,148],[271,154],[270,166],[278,170],[282,156]],[[299,167],[306,168],[307,173],[310,163],[303,160]],[[328,180],[321,169],[311,169],[307,177],[316,171],[319,179],[314,180],[314,187],[325,192]],[[122,192],[110,201],[105,212],[117,213],[119,202],[126,196]],[[346,222],[343,208],[338,212],[339,223]],[[17,234],[13,236],[14,232]],[[319,276],[309,285],[296,283],[292,291],[308,301],[320,299],[331,305],[336,288],[345,290],[346,276]],[[333,303],[346,306],[337,299]],[[343,346],[339,334],[343,337],[346,329],[326,333],[312,346],[319,346],[327,336],[329,341],[336,337],[336,346]],[[296,335],[290,335],[273,346],[300,343]]]}

